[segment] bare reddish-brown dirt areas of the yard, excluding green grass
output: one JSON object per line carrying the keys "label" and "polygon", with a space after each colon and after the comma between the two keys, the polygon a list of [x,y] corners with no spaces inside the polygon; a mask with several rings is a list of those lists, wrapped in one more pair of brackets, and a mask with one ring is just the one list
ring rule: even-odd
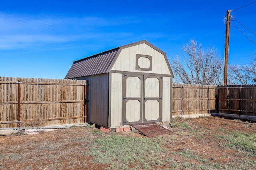
{"label": "bare reddish-brown dirt areas of the yard, excluding green grass", "polygon": [[[189,128],[169,127],[169,130],[175,134],[162,136],[163,147],[168,150],[166,154],[176,162],[192,161],[196,164],[196,160],[174,155],[174,152],[189,149],[199,158],[210,161],[211,164],[232,164],[234,160],[243,159],[241,154],[235,149],[225,147],[223,141],[216,135],[224,135],[226,131],[256,133],[256,123],[248,121],[212,116],[179,121]],[[78,126],[41,132],[38,135],[16,133],[0,136],[0,169],[106,169],[108,164],[93,162],[93,157],[86,156],[83,152],[91,147],[89,144],[94,139],[113,133],[116,132],[100,133],[96,128]],[[118,135],[145,137],[136,131],[118,132]],[[256,160],[256,158],[251,159]],[[157,168],[168,169],[166,166]]]}

